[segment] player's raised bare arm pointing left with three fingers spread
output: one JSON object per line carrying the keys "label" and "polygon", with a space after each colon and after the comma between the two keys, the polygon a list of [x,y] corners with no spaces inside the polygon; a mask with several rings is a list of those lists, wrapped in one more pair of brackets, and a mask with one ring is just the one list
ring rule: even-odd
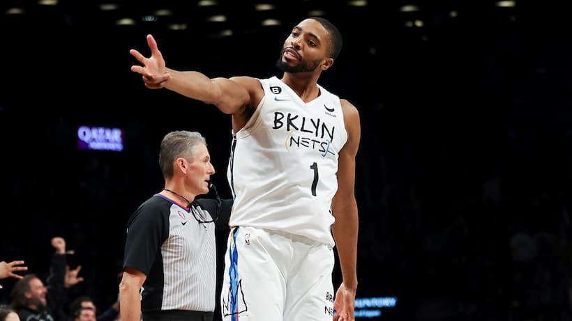
{"label": "player's raised bare arm pointing left with three fingers spread", "polygon": [[147,35],[151,56],[146,58],[135,49],[130,50],[142,65],[133,65],[131,70],[142,75],[147,88],[167,88],[186,97],[214,104],[223,113],[241,112],[245,106],[255,106],[253,92],[260,93],[259,83],[251,77],[210,79],[196,71],[178,71],[167,68],[157,42]]}

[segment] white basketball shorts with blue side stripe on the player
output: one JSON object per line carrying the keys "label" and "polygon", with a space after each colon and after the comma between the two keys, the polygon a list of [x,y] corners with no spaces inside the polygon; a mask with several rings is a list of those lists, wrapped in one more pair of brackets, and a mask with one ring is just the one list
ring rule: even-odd
{"label": "white basketball shorts with blue side stripe on the player", "polygon": [[331,321],[333,249],[306,237],[232,228],[225,252],[225,321]]}

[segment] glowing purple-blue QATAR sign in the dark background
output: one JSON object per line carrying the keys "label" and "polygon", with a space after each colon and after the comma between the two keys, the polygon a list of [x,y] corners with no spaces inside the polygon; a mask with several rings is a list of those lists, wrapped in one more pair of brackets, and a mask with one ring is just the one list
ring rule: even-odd
{"label": "glowing purple-blue QATAR sign in the dark background", "polygon": [[113,127],[80,126],[77,128],[80,150],[123,150],[123,130]]}

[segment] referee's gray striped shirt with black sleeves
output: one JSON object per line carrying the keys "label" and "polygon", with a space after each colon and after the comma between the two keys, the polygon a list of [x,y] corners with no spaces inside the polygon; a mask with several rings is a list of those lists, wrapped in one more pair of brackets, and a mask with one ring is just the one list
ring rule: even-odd
{"label": "referee's gray striped shirt with black sleeves", "polygon": [[216,213],[216,206],[216,201],[200,199],[187,209],[156,194],[131,215],[123,269],[133,267],[147,276],[141,292],[143,312],[214,311],[216,244],[211,213]]}

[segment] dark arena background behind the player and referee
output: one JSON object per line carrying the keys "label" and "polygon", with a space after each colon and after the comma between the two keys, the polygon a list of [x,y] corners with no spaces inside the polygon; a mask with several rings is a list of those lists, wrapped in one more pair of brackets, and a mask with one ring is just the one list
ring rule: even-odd
{"label": "dark arena background behind the player and referee", "polygon": [[164,134],[202,132],[230,197],[230,117],[145,88],[128,50],[152,33],[167,67],[280,76],[310,15],[345,40],[319,83],[361,114],[356,320],[571,320],[572,38],[552,0],[3,0],[0,261],[45,279],[64,237],[70,297],[110,306]]}

